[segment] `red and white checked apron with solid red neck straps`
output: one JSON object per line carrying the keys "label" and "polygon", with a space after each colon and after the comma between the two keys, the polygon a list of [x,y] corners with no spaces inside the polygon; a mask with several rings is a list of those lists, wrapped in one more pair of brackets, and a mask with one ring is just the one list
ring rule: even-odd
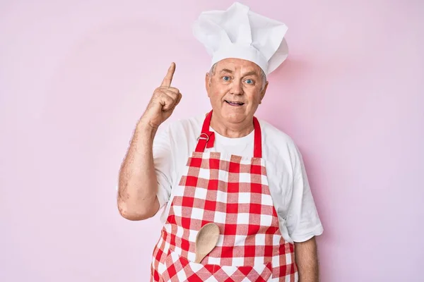
{"label": "red and white checked apron with solid red neck straps", "polygon": [[[269,192],[261,128],[254,118],[254,157],[204,152],[213,147],[205,118],[192,157],[172,189],[170,212],[153,250],[151,281],[298,281],[294,245],[281,235]],[[218,244],[200,264],[195,240],[206,223]]]}

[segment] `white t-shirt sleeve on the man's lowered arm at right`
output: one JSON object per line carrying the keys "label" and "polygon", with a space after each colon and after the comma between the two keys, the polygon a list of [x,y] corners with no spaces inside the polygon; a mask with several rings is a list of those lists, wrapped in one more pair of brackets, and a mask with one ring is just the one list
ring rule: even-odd
{"label": "white t-shirt sleeve on the man's lowered arm at right", "polygon": [[293,194],[288,209],[287,228],[295,242],[305,242],[324,231],[315,206],[305,164],[298,147],[295,147]]}

